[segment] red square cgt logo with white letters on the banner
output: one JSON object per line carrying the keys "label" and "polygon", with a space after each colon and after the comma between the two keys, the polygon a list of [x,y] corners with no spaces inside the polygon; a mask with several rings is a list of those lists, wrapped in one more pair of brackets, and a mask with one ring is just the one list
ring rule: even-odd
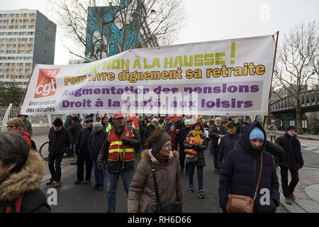
{"label": "red square cgt logo with white letters on the banner", "polygon": [[55,77],[60,70],[61,68],[39,70],[38,82],[34,94],[35,99],[55,95],[57,89]]}

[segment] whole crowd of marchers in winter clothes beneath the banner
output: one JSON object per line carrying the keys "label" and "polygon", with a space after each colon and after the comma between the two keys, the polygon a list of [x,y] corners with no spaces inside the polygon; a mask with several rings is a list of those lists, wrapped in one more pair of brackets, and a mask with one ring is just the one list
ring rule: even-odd
{"label": "whole crowd of marchers in winter clothes beneath the banner", "polygon": [[[9,119],[9,133],[0,133],[0,211],[50,211],[50,206],[43,200],[44,194],[38,189],[44,162],[31,143],[32,129],[30,122],[25,123],[26,117]],[[55,182],[54,187],[61,186],[61,162],[67,153],[69,157],[74,157],[72,164],[77,165],[74,184],[89,184],[94,169],[94,189],[103,191],[104,177],[107,175],[108,212],[116,211],[120,176],[128,198],[128,212],[158,212],[164,205],[182,204],[181,175],[184,171],[188,175],[188,189],[192,193],[195,169],[198,196],[204,199],[203,169],[206,165],[220,177],[218,194],[223,212],[231,212],[228,209],[230,194],[254,198],[254,212],[275,212],[279,206],[278,166],[281,167],[286,203],[291,204],[291,200],[296,199],[293,191],[298,184],[298,170],[303,167],[303,157],[293,126],[287,128],[284,136],[276,138],[273,134],[272,139],[274,137],[276,143],[272,143],[267,140],[259,122],[240,125],[231,120],[222,121],[219,117],[211,121],[194,121],[186,117],[152,116],[138,118],[138,126],[135,126],[133,120],[125,119],[123,114],[96,120],[92,114],[86,116],[82,123],[77,114],[67,116],[65,123],[61,118],[53,121],[48,135],[47,165],[51,178],[46,184]],[[272,123],[269,130],[275,133],[275,127]],[[204,150],[208,144],[213,163],[206,163],[205,160]],[[9,152],[15,155],[9,155]],[[141,160],[135,170],[138,155]],[[33,168],[28,167],[31,161],[35,163]],[[259,169],[262,170],[260,179]],[[290,183],[288,170],[291,172]],[[21,187],[11,196],[5,196],[8,194],[7,185],[14,184],[19,176],[27,175],[26,171],[36,174],[31,179],[19,180],[32,181],[34,178],[33,187]],[[256,185],[259,185],[259,191],[254,194]],[[260,204],[260,189],[269,190],[268,204]],[[18,204],[21,195],[22,205]],[[39,199],[34,206],[30,206],[28,197],[33,196],[39,196]]]}

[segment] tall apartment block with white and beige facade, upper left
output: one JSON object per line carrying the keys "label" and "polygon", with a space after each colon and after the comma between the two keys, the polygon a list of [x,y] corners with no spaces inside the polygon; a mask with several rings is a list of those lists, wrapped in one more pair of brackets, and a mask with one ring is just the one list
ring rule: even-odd
{"label": "tall apartment block with white and beige facade, upper left", "polygon": [[26,87],[34,62],[53,65],[55,33],[38,10],[0,11],[0,82]]}

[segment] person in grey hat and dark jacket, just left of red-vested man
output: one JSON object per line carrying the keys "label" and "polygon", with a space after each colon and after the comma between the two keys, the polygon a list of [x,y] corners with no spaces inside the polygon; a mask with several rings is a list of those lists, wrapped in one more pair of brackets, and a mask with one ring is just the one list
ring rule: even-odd
{"label": "person in grey hat and dark jacket, just left of red-vested man", "polygon": [[99,189],[100,191],[102,191],[104,187],[104,166],[106,164],[106,160],[103,161],[102,170],[98,170],[96,161],[97,157],[99,156],[99,152],[102,148],[102,145],[106,140],[107,135],[108,133],[106,133],[106,131],[103,130],[103,126],[101,123],[94,123],[93,132],[89,137],[90,158],[93,163],[95,177],[94,190]]}

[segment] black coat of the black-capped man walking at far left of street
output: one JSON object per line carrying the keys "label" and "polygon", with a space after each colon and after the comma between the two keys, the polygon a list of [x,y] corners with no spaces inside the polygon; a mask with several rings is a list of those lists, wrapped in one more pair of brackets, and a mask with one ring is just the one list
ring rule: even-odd
{"label": "black coat of the black-capped man walking at far left of street", "polygon": [[71,136],[69,130],[62,126],[60,131],[55,131],[55,128],[50,128],[49,132],[49,153],[52,156],[63,155],[67,147],[71,144]]}

